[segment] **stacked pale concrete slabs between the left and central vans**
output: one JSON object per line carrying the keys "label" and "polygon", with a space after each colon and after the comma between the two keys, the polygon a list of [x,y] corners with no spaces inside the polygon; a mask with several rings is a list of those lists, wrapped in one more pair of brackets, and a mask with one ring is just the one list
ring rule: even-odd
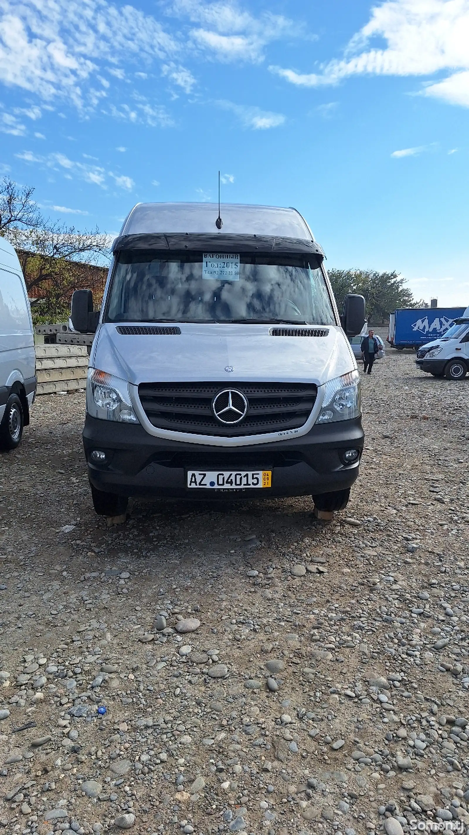
{"label": "stacked pale concrete slabs between the left and central vans", "polygon": [[37,394],[72,392],[87,382],[85,345],[37,345]]}

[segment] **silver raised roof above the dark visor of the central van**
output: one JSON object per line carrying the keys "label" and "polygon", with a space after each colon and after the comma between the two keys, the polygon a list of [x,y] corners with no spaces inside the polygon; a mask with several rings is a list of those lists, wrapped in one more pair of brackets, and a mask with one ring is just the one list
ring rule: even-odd
{"label": "silver raised roof above the dark visor of the central van", "polygon": [[296,209],[223,203],[217,232],[215,203],[137,203],[124,220],[121,235],[185,233],[196,235],[276,235],[314,240]]}

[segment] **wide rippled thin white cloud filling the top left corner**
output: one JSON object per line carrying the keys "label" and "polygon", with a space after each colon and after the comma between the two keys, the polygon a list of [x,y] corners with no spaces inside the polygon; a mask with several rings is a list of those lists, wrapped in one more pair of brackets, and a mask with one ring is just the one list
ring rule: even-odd
{"label": "wide rippled thin white cloud filling the top left corner", "polygon": [[152,15],[107,0],[1,0],[0,80],[42,99],[62,97],[85,106],[87,82],[125,58],[171,58],[179,45]]}

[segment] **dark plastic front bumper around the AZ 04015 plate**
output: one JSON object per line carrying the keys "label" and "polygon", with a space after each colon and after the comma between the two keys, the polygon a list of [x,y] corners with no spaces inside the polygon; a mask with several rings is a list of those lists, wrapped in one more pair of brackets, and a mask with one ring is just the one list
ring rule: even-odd
{"label": "dark plastic front bumper around the AZ 04015 plate", "polygon": [[[360,417],[314,426],[301,438],[226,448],[149,435],[142,426],[98,420],[87,414],[83,445],[92,485],[107,493],[153,498],[242,499],[318,495],[352,487],[360,459],[345,465],[341,453],[362,453]],[[106,453],[91,461],[92,450]],[[272,488],[187,489],[187,469],[272,469]],[[259,495],[262,493],[262,495]]]}

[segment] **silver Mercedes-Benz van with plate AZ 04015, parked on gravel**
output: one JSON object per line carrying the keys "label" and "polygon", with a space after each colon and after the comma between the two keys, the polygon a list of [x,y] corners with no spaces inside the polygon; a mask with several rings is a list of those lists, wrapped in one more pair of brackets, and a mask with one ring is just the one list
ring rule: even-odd
{"label": "silver Mercedes-Benz van with plate AZ 04015, parked on gravel", "polygon": [[101,312],[73,296],[74,328],[97,329],[83,441],[98,514],[129,496],[347,504],[363,447],[347,335],[364,300],[341,319],[297,210],[224,205],[221,220],[208,204],[136,205]]}

